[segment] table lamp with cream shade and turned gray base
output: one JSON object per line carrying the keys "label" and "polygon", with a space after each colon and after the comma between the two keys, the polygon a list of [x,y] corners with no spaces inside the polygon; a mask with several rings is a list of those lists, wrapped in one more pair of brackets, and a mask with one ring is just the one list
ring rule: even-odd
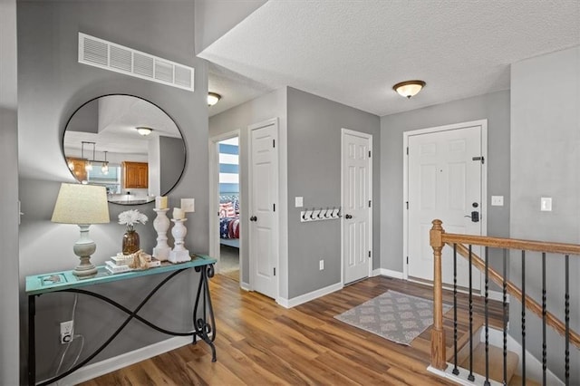
{"label": "table lamp with cream shade and turned gray base", "polygon": [[107,190],[104,187],[82,184],[61,185],[54,204],[53,223],[76,224],[81,228],[81,237],[74,244],[73,251],[81,263],[74,268],[73,275],[80,279],[97,274],[91,263],[91,255],[97,249],[89,237],[91,224],[110,222]]}

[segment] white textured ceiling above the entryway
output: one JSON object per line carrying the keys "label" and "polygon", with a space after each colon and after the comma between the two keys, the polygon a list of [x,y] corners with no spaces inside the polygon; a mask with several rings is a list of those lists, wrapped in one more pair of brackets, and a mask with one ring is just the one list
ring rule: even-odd
{"label": "white textured ceiling above the entryway", "polygon": [[507,90],[510,63],[578,44],[578,0],[270,0],[199,56],[210,115],[291,86],[382,116]]}

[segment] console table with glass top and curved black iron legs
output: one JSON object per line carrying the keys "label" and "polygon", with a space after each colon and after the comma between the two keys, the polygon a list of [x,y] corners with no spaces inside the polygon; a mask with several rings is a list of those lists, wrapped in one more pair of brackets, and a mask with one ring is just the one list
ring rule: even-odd
{"label": "console table with glass top and curved black iron legs", "polygon": [[[111,334],[111,337],[102,343],[101,347],[92,352],[86,359],[82,362],[77,363],[67,372],[63,372],[49,380],[43,381],[40,385],[46,385],[59,381],[66,377],[67,375],[76,372],[78,369],[82,368],[85,364],[90,362],[99,352],[109,345],[115,337],[121,333],[121,331],[127,326],[132,319],[137,319],[141,323],[148,325],[150,328],[155,329],[161,333],[167,333],[174,336],[189,336],[193,337],[193,342],[197,342],[199,337],[204,342],[208,343],[211,348],[212,362],[216,362],[216,347],[214,345],[214,340],[216,339],[216,323],[214,318],[213,307],[211,305],[211,298],[209,296],[209,285],[208,279],[214,275],[214,264],[216,259],[209,256],[197,255],[193,256],[192,260],[185,263],[170,264],[169,262],[163,262],[161,266],[150,268],[140,271],[130,271],[122,274],[110,274],[104,267],[104,265],[98,267],[98,273],[96,276],[87,279],[78,279],[73,275],[73,271],[55,272],[43,275],[30,275],[26,276],[26,294],[28,295],[28,383],[34,385],[36,382],[36,347],[35,347],[35,329],[34,329],[34,319],[35,319],[35,299],[36,296],[41,294],[48,294],[53,292],[71,292],[75,294],[85,294],[95,297],[103,302],[111,304],[112,306],[120,309],[125,314],[127,318],[121,323],[121,326]],[[195,303],[193,304],[193,330],[188,332],[174,332],[169,331],[159,326],[151,323],[145,318],[141,317],[138,313],[143,305],[147,304],[150,298],[155,294],[163,285],[169,282],[173,277],[179,275],[179,273],[194,268],[196,272],[200,272],[200,279],[198,285],[198,294],[195,298]],[[159,285],[156,285],[149,294],[147,294],[140,304],[135,307],[135,309],[130,310],[129,308],[115,302],[111,298],[103,296],[102,294],[97,294],[84,289],[83,287],[91,287],[92,285],[101,285],[104,283],[115,282],[119,280],[129,280],[132,278],[147,276],[147,275],[159,275],[169,273]]]}

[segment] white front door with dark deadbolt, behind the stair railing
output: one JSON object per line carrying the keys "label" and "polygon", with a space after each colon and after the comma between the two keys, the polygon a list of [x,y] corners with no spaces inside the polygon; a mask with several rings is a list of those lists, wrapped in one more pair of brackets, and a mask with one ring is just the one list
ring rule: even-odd
{"label": "white front door with dark deadbolt, behind the stair railing", "polygon": [[[410,135],[408,141],[408,275],[433,280],[431,221],[439,218],[446,232],[482,235],[482,127]],[[476,212],[476,218],[471,213]],[[480,250],[473,251],[481,256]],[[453,284],[453,253],[443,248],[442,279]],[[458,256],[458,285],[469,286],[469,264]],[[480,288],[472,268],[472,286]]]}

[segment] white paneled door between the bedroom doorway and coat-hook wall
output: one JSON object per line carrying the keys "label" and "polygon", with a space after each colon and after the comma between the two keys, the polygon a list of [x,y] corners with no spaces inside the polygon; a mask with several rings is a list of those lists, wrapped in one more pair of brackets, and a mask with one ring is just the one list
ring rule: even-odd
{"label": "white paneled door between the bedroom doorway and coat-hook wall", "polygon": [[277,123],[251,130],[250,269],[252,288],[276,298],[278,281],[278,151]]}

